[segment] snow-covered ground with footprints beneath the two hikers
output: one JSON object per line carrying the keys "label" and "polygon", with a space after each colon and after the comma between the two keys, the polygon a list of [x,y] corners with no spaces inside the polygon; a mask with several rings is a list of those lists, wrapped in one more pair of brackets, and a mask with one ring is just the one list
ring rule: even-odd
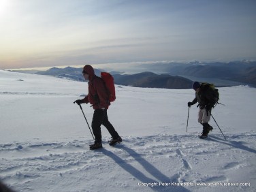
{"label": "snow-covered ground with footprints beneath the two hikers", "polygon": [[[219,89],[209,138],[191,90],[116,85],[108,110],[123,144],[89,150],[76,99],[86,82],[0,70],[0,179],[16,191],[256,191],[256,89]],[[89,124],[93,109],[82,105]],[[146,187],[145,185],[148,185]],[[163,186],[165,185],[165,186]],[[200,186],[201,185],[201,186]]]}

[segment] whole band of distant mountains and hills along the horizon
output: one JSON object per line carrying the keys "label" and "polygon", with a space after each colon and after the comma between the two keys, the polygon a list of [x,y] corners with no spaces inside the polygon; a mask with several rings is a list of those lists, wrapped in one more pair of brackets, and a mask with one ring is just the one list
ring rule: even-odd
{"label": "whole band of distant mountains and hills along the horizon", "polygon": [[[146,69],[149,72],[144,72]],[[95,69],[100,76],[101,69]],[[159,62],[138,64],[133,66],[138,74],[127,75],[112,71],[114,82],[121,85],[155,87],[165,89],[191,89],[192,80],[211,82],[217,86],[235,86],[249,84],[256,87],[256,61],[221,62]],[[82,68],[66,67],[64,69],[52,67],[47,71],[37,71],[36,74],[57,76],[71,80],[84,81]]]}

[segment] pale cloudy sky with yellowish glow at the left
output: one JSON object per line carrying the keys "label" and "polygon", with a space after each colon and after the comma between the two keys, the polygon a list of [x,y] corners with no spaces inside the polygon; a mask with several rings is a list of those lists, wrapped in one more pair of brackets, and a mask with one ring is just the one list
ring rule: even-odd
{"label": "pale cloudy sky with yellowish glow at the left", "polygon": [[0,69],[256,59],[255,0],[0,0]]}

